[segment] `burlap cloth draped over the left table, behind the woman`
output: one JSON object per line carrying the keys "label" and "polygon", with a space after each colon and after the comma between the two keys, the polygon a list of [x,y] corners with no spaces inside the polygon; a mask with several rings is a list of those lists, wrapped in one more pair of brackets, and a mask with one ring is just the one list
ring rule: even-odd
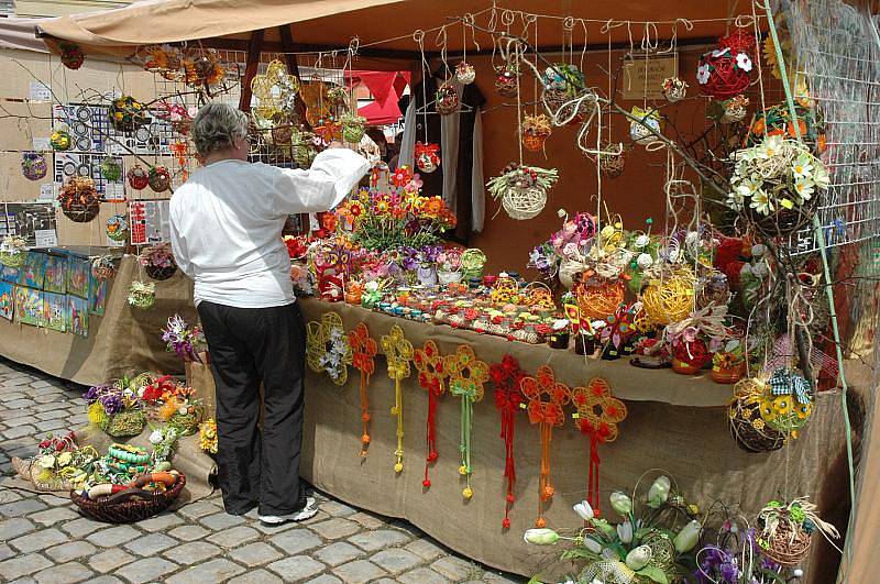
{"label": "burlap cloth draped over the left table, behind the woman", "polygon": [[89,315],[87,338],[0,319],[0,355],[84,385],[143,371],[183,374],[180,360],[165,351],[162,329],[175,312],[195,320],[193,280],[178,271],[156,282],[155,307],[140,310],[129,306],[127,297],[132,280],[150,279],[141,272],[135,256],[122,258],[108,282],[103,317]]}

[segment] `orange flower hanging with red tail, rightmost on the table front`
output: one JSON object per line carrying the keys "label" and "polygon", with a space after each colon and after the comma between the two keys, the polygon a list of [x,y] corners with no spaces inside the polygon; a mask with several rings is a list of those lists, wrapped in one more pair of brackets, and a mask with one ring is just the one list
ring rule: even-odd
{"label": "orange flower hanging with red tail, rightmost on the table front", "polygon": [[600,377],[592,379],[586,387],[575,387],[572,401],[578,408],[578,427],[590,438],[586,502],[598,515],[598,444],[617,439],[617,423],[626,419],[627,409],[623,401],[612,395],[608,383]]}

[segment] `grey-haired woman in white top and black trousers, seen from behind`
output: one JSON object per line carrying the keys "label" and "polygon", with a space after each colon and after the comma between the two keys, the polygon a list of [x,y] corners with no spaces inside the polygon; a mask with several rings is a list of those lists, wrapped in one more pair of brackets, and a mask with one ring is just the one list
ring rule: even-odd
{"label": "grey-haired woman in white top and black trousers, seen from behind", "polygon": [[232,515],[258,506],[268,525],[301,521],[318,510],[299,481],[306,333],[280,234],[288,216],[339,205],[369,163],[334,143],[308,170],[250,164],[248,117],[224,103],[199,110],[193,140],[205,166],[172,197],[170,238],[195,279],[217,385],[223,504]]}

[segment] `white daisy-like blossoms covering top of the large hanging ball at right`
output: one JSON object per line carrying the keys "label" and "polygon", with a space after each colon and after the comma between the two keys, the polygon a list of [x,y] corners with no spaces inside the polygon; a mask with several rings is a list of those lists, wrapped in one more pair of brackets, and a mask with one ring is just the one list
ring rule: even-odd
{"label": "white daisy-like blossoms covering top of the large hanging ball at right", "polygon": [[799,142],[767,136],[760,144],[734,154],[727,205],[737,211],[748,207],[770,216],[780,209],[804,206],[816,192],[828,188],[825,165]]}

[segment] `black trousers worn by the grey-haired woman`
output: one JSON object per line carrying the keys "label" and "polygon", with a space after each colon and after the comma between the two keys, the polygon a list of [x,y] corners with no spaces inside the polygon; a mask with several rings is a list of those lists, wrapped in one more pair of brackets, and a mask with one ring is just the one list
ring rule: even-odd
{"label": "black trousers worn by the grey-haired woman", "polygon": [[[306,326],[298,304],[233,308],[199,302],[217,385],[220,488],[227,513],[286,515],[306,505],[299,481]],[[260,383],[264,418],[260,418]]]}

